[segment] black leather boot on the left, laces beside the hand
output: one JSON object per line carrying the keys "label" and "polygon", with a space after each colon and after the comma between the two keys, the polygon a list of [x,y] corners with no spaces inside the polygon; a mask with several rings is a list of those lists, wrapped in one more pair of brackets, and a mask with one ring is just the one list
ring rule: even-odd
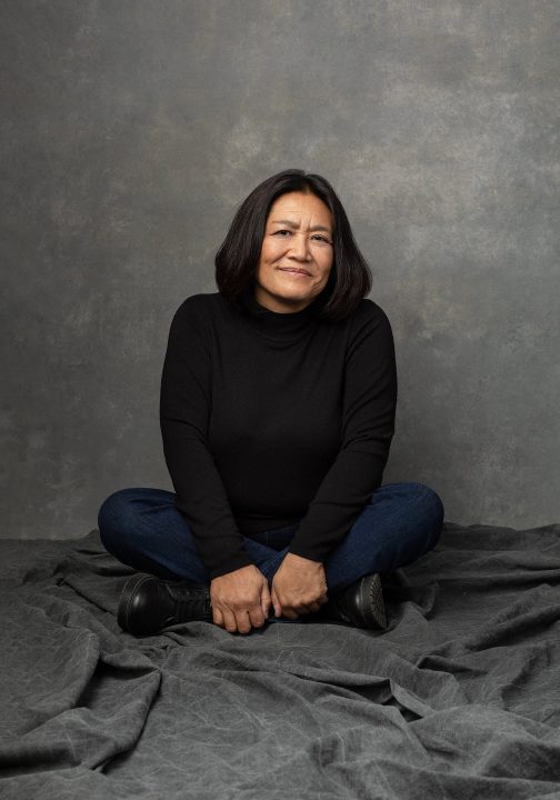
{"label": "black leather boot on the left, laces beside the hand", "polygon": [[151,636],[178,622],[212,622],[210,591],[203,583],[133,574],[122,589],[117,620],[133,636]]}

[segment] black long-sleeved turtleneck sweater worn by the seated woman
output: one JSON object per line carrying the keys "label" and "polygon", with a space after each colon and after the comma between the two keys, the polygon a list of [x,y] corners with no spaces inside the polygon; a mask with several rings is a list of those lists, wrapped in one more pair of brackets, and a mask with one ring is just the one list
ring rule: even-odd
{"label": "black long-sleeved turtleneck sweater worn by the seated woman", "polygon": [[371,300],[346,320],[196,294],[171,323],[163,452],[212,578],[251,563],[241,533],[301,520],[290,551],[324,561],[381,483],[397,378]]}

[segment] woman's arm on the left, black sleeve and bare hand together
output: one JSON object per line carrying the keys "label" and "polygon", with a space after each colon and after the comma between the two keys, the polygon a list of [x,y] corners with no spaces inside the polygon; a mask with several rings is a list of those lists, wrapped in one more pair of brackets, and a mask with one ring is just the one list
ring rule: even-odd
{"label": "woman's arm on the left, black sleeve and bare hand together", "polygon": [[[208,444],[212,348],[192,300],[177,311],[161,377],[160,423],[166,462],[197,550],[207,567],[216,624],[231,633],[260,628],[271,598],[252,563]],[[206,329],[206,333],[204,333]]]}

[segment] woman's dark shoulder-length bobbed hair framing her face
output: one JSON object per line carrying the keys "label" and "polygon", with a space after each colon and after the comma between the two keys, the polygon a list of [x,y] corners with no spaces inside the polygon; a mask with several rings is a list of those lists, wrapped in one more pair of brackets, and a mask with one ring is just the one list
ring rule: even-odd
{"label": "woman's dark shoulder-length bobbed hair framing her face", "polygon": [[311,193],[332,213],[333,262],[329,281],[319,294],[318,313],[337,320],[348,317],[371,289],[371,271],[354,241],[350,222],[334,189],[318,174],[284,170],[268,178],[243,200],[216,254],[216,282],[233,302],[253,281],[270,208],[288,192]]}

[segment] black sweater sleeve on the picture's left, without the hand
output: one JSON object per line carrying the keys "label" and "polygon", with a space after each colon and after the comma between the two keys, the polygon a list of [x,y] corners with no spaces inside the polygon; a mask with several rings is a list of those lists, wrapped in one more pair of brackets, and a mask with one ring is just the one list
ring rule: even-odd
{"label": "black sweater sleeve on the picture's left, without the hand", "polygon": [[[197,550],[216,578],[252,563],[210,452],[212,348],[208,324],[187,300],[171,322],[161,377],[160,426],[163,453]],[[206,329],[206,330],[204,330]]]}

